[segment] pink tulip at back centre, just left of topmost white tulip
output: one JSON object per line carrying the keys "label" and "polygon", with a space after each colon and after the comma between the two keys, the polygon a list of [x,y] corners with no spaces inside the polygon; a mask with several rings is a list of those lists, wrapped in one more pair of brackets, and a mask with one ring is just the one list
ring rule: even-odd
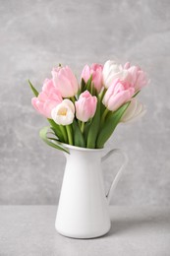
{"label": "pink tulip at back centre, just left of topmost white tulip", "polygon": [[85,83],[88,81],[88,79],[92,75],[92,83],[98,93],[100,93],[102,86],[103,86],[102,70],[103,70],[102,65],[93,63],[90,67],[88,65],[85,65],[82,75],[81,75],[81,78],[83,78],[85,80]]}

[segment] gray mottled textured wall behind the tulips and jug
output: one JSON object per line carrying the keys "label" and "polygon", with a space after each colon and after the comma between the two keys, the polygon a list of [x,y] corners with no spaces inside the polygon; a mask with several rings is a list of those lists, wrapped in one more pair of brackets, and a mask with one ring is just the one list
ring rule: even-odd
{"label": "gray mottled textured wall behind the tulips and jug", "polygon": [[170,1],[1,0],[0,24],[0,204],[59,198],[65,159],[38,138],[46,120],[30,105],[27,79],[39,89],[58,63],[79,76],[86,63],[116,57],[141,64],[151,83],[142,121],[120,125],[107,144],[130,158],[112,203],[168,205]]}

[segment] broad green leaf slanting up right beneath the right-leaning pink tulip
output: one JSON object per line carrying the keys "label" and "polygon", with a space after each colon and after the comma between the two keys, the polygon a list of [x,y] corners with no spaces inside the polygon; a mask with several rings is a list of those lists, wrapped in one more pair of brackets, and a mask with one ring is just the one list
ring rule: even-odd
{"label": "broad green leaf slanting up right beneath the right-leaning pink tulip", "polygon": [[101,130],[97,137],[96,148],[103,148],[106,141],[110,138],[112,133],[114,132],[116,126],[118,125],[122,115],[126,111],[130,102],[125,103],[121,107],[119,107],[115,112],[110,113],[106,119],[104,125],[101,127]]}

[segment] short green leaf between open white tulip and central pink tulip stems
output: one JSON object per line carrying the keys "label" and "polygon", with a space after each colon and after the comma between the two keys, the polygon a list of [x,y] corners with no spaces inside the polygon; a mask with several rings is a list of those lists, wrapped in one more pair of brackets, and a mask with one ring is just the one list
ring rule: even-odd
{"label": "short green leaf between open white tulip and central pink tulip stems", "polygon": [[85,139],[76,120],[73,121],[74,145],[85,148]]}

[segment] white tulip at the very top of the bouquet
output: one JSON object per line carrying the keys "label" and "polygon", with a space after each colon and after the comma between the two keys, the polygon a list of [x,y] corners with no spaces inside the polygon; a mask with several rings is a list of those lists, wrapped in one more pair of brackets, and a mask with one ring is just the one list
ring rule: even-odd
{"label": "white tulip at the very top of the bouquet", "polygon": [[128,71],[123,69],[122,65],[117,64],[114,60],[107,60],[103,67],[103,84],[108,89],[114,79],[125,80]]}

